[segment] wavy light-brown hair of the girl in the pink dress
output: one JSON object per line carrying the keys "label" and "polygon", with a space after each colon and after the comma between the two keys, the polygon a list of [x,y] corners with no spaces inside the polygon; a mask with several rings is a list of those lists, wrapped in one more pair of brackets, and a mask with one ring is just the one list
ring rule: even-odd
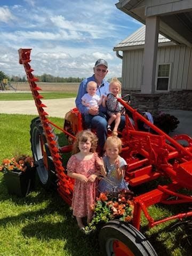
{"label": "wavy light-brown hair of the girl in the pink dress", "polygon": [[91,141],[90,152],[94,153],[97,148],[98,138],[93,132],[91,132],[89,130],[84,130],[84,131],[77,133],[76,140],[73,145],[72,154],[77,154],[80,151],[78,148],[78,144],[80,141],[86,142],[88,139],[90,139],[90,141]]}

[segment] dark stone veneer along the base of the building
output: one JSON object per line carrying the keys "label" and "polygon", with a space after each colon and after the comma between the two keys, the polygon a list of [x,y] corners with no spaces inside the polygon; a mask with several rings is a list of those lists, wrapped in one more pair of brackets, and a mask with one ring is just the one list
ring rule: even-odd
{"label": "dark stone veneer along the base of the building", "polygon": [[140,90],[122,90],[122,95],[126,93],[131,95],[131,106],[140,111],[153,112],[153,108],[155,111],[165,108],[192,110],[192,90],[156,94],[140,94]]}

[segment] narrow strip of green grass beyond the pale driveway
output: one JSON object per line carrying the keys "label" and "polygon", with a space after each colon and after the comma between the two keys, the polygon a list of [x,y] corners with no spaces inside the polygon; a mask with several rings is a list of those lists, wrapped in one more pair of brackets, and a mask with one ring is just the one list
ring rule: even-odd
{"label": "narrow strip of green grass beyond the pale driveway", "polygon": [[[46,100],[75,98],[76,93],[64,92],[39,92]],[[33,95],[29,93],[0,93],[0,100],[33,100]]]}

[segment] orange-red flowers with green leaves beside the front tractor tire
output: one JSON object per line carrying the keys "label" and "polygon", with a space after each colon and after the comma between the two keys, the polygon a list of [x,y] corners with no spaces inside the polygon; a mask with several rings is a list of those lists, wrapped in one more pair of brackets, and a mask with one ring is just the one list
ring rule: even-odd
{"label": "orange-red flowers with green leaves beside the front tractor tire", "polygon": [[119,219],[130,222],[133,215],[133,192],[122,190],[114,193],[101,193],[95,205],[91,206],[94,211],[93,219],[85,232],[95,230],[99,223]]}

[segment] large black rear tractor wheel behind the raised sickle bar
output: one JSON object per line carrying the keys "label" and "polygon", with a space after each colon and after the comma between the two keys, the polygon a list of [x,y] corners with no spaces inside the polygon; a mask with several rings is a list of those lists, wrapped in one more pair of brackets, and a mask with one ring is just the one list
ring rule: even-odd
{"label": "large black rear tractor wheel behind the raised sickle bar", "polygon": [[39,117],[31,121],[30,142],[39,182],[45,189],[56,188],[55,167]]}

